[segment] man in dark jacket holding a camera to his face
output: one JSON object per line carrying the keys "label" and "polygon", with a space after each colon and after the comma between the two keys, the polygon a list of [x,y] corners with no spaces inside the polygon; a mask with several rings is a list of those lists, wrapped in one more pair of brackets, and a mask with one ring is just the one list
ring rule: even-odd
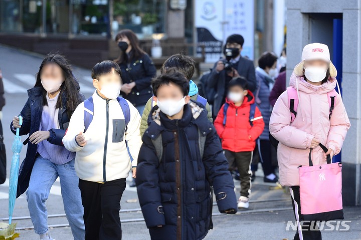
{"label": "man in dark jacket holding a camera to his face", "polygon": [[243,76],[247,79],[249,90],[256,90],[256,75],[253,62],[241,56],[244,39],[239,34],[227,38],[224,54],[226,59],[218,61],[210,76],[209,85],[216,89],[213,103],[213,118],[216,118],[227,96],[227,85],[232,78]]}

